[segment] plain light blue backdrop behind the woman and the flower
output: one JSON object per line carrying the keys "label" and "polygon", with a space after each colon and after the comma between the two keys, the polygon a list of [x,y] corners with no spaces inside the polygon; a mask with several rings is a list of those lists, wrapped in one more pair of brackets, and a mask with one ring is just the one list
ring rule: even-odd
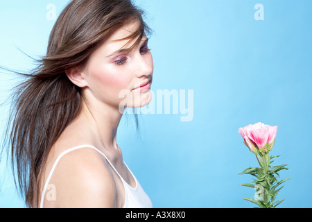
{"label": "plain light blue backdrop behind the woman and the flower", "polygon": [[[1,1],[0,65],[33,67],[17,48],[38,58],[46,51],[54,21],[67,1]],[[193,89],[193,120],[182,114],[141,114],[140,133],[130,114],[117,142],[124,160],[154,207],[254,207],[241,197],[255,190],[238,173],[257,167],[243,145],[240,127],[259,121],[278,126],[272,155],[288,164],[279,207],[312,207],[311,23],[312,1],[137,0],[153,28],[153,90]],[[264,20],[254,19],[256,3]],[[18,78],[0,76],[1,102]],[[0,108],[1,134],[6,105]],[[0,164],[0,207],[24,207],[15,193],[5,155]]]}

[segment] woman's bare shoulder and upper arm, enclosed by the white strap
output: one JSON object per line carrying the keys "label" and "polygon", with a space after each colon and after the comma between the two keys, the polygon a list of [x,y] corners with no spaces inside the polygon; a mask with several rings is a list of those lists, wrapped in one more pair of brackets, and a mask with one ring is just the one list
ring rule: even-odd
{"label": "woman's bare shoulder and upper arm, enclosed by the white strap", "polygon": [[51,204],[55,207],[115,207],[116,186],[106,164],[103,155],[90,147],[73,149],[62,155],[49,182],[55,185],[55,200]]}

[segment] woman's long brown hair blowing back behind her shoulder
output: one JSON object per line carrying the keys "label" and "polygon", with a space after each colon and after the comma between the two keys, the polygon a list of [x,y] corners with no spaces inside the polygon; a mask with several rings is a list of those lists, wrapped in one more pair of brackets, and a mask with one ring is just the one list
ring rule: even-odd
{"label": "woman's long brown hair blowing back behind her shoulder", "polygon": [[[90,54],[118,28],[139,22],[125,39],[149,33],[143,12],[131,0],[73,0],[55,22],[46,56],[15,87],[6,133],[15,181],[27,207],[36,207],[46,158],[63,130],[81,110],[82,94],[65,71],[83,66]],[[123,39],[123,40],[125,40]],[[134,45],[135,45],[134,44]]]}

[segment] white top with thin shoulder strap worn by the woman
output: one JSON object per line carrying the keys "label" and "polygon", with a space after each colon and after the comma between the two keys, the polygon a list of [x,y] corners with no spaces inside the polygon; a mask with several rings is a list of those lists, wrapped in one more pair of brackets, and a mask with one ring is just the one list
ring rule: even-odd
{"label": "white top with thin shoulder strap worn by the woman", "polygon": [[[73,148],[69,148],[67,151],[62,152],[58,156],[58,158],[55,160],[55,163],[53,164],[53,167],[52,167],[52,169],[51,169],[51,171],[49,173],[49,176],[46,179],[46,183],[44,184],[44,189],[42,191],[42,196],[41,196],[41,201],[40,201],[40,208],[43,207],[44,196],[46,194],[46,189],[47,189],[47,187],[49,185],[49,181],[51,179],[51,176],[53,174],[53,171],[54,171],[56,165],[58,164],[60,159],[65,154],[67,154],[67,153],[69,153],[71,151],[75,151],[75,150],[77,150],[79,148],[93,148],[94,150],[98,151],[98,153],[101,153],[101,155],[103,155],[105,157],[107,162],[109,162],[109,164],[112,166],[112,169],[114,169],[114,171],[116,171],[116,169],[114,168],[113,164],[110,162],[110,160],[108,160],[106,155],[104,153],[102,153],[101,151],[99,151],[94,146],[82,145],[82,146],[75,146]],[[127,164],[125,164],[125,166],[128,168]],[[128,170],[130,171],[129,168],[128,168]],[[153,207],[152,202],[150,201],[150,198],[145,193],[144,189],[141,187],[141,185],[137,181],[137,178],[135,178],[135,176],[133,175],[133,173],[131,171],[130,171],[130,173],[132,174],[132,177],[135,179],[135,187],[131,187],[128,184],[128,182],[125,182],[125,180],[123,180],[123,177],[118,173],[118,171],[116,171],[116,173],[119,176],[119,178],[121,179],[121,181],[123,182],[123,187],[125,189],[125,203],[123,205],[123,208],[152,208]]]}

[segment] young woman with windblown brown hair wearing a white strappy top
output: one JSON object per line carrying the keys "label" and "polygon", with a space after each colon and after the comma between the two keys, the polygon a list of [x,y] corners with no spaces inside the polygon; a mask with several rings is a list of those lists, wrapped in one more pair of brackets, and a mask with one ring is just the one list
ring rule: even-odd
{"label": "young woman with windblown brown hair wearing a white strappy top", "polygon": [[73,0],[17,87],[10,147],[28,207],[152,207],[123,162],[123,110],[150,103],[148,27],[130,0]]}

